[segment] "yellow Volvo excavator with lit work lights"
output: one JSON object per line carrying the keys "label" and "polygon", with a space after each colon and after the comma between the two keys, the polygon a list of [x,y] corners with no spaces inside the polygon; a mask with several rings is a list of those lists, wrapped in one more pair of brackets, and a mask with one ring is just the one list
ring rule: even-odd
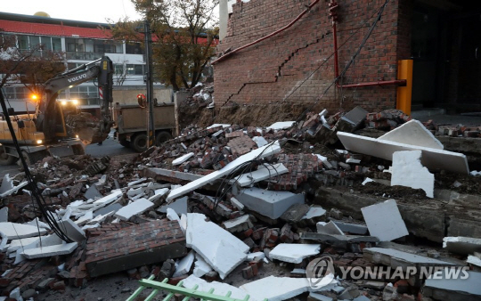
{"label": "yellow Volvo excavator with lit work lights", "polygon": [[[46,156],[81,155],[85,153],[85,144],[105,140],[114,123],[110,115],[113,73],[112,61],[102,56],[46,81],[42,97],[37,97],[35,113],[15,115],[9,110],[20,154],[13,145],[4,114],[0,113],[0,165],[11,165],[20,156],[30,165]],[[100,119],[78,113],[75,100],[57,99],[62,90],[89,80],[96,80],[102,91]]]}

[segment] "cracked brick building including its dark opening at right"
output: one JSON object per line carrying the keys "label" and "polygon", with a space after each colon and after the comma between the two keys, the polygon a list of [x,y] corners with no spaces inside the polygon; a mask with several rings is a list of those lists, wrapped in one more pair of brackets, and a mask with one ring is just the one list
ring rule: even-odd
{"label": "cracked brick building including its dark opening at right", "polygon": [[[221,1],[216,106],[313,103],[331,112],[396,108],[398,63],[412,60],[412,110],[481,111],[481,2],[454,0]],[[224,6],[223,6],[224,3]],[[232,4],[232,13],[227,5]],[[311,4],[310,9],[306,9]],[[355,55],[354,63],[323,94]],[[297,17],[305,12],[298,20]],[[336,28],[333,27],[333,17]],[[248,45],[286,27],[273,37]],[[337,34],[338,51],[335,51]],[[230,53],[229,53],[230,52]],[[231,54],[232,53],[232,54]],[[312,76],[310,76],[312,74]],[[379,83],[380,85],[367,83]],[[357,85],[361,84],[361,85]]]}

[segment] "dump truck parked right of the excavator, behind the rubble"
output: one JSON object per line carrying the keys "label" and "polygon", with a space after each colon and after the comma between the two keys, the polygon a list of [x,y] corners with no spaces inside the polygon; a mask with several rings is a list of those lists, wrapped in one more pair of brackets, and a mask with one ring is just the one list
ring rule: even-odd
{"label": "dump truck parked right of the excavator, behind the rubble", "polygon": [[[175,104],[154,105],[155,144],[172,139],[175,130]],[[137,152],[147,150],[147,109],[139,105],[120,105],[113,108],[114,140]]]}

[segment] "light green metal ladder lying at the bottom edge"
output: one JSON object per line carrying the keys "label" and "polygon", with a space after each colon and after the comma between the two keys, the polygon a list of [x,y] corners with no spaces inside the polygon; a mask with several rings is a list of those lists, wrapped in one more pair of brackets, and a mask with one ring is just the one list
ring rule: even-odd
{"label": "light green metal ladder lying at the bottom edge", "polygon": [[[205,292],[205,291],[198,291],[197,289],[199,288],[199,285],[195,285],[193,287],[193,289],[185,289],[182,287],[183,285],[183,281],[179,281],[179,283],[177,285],[172,285],[172,284],[168,284],[167,281],[168,279],[164,279],[162,282],[159,282],[159,281],[153,281],[153,279],[155,278],[154,275],[151,275],[151,277],[149,277],[149,279],[143,279],[140,282],[140,288],[138,289],[135,289],[135,292],[132,296],[128,297],[126,299],[126,301],[134,301],[136,297],[138,297],[143,289],[147,289],[147,288],[150,288],[150,289],[153,289],[151,294],[146,297],[144,299],[144,301],[151,301],[154,297],[156,297],[160,290],[167,290],[169,292],[169,294],[167,295],[167,297],[165,297],[163,299],[163,301],[168,301],[170,300],[172,297],[174,297],[174,294],[182,294],[183,296],[185,296],[182,301],[188,301],[191,297],[194,297],[194,298],[200,298],[202,301],[203,300],[213,300],[213,301],[248,301],[249,300],[249,295],[247,295],[246,297],[244,297],[243,299],[235,299],[235,298],[232,298],[231,295],[232,295],[232,292],[229,291],[227,292],[227,295],[225,296],[219,296],[219,295],[216,295],[214,294],[214,289],[210,289],[208,292]],[[265,299],[264,301],[267,301],[267,299]]]}

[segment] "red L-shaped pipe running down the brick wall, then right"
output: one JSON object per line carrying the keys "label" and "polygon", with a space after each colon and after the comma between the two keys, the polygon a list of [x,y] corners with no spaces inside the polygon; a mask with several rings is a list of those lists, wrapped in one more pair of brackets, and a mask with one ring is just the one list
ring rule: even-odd
{"label": "red L-shaped pipe running down the brick wall, then right", "polygon": [[[332,19],[332,38],[334,39],[334,73],[336,78],[339,77],[339,63],[338,63],[338,30],[337,30],[337,21],[338,21],[338,12],[336,12],[338,8],[338,3],[336,0],[330,0],[329,3],[329,16]],[[358,83],[358,84],[349,84],[349,85],[339,85],[338,80],[336,80],[336,86],[338,88],[356,88],[356,87],[363,87],[363,86],[373,86],[373,85],[406,85],[405,79],[394,79],[394,80],[379,80],[377,82],[365,82],[365,83]]]}

